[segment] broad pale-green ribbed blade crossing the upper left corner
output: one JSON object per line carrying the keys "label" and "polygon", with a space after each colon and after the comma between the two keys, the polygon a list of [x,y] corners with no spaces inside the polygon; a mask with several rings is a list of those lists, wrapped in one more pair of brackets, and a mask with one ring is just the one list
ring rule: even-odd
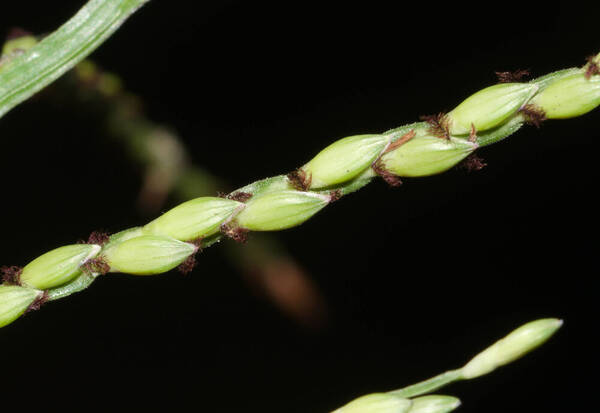
{"label": "broad pale-green ribbed blade crossing the upper left corner", "polygon": [[0,71],[0,117],[56,80],[148,0],[90,0],[58,30]]}

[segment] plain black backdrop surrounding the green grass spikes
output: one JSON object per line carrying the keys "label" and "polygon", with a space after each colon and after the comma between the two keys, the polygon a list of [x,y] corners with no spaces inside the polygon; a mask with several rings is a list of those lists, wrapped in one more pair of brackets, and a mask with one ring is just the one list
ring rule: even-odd
{"label": "plain black backdrop surrounding the green grass spikes", "polygon": [[[0,34],[49,32],[83,3],[3,5]],[[241,186],[450,110],[494,71],[582,65],[600,51],[590,4],[153,0],[93,58]],[[565,326],[546,346],[441,393],[464,413],[595,410],[599,119],[525,128],[482,150],[480,172],[375,182],[280,233],[327,300],[320,330],[253,295],[216,246],[191,276],[110,275],[0,330],[0,394],[23,409],[326,412],[553,316]],[[0,120],[2,264],[147,221],[140,171],[100,131],[43,98]]]}

